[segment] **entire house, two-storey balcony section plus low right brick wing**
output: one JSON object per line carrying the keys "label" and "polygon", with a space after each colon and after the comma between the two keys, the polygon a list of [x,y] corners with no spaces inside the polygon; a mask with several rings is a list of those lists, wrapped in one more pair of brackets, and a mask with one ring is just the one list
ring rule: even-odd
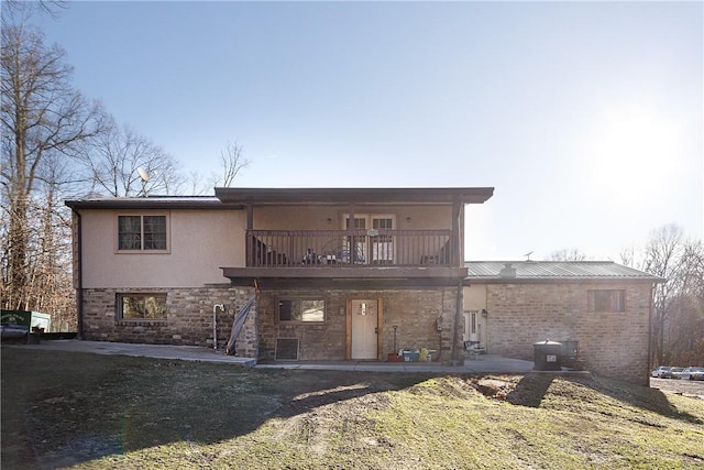
{"label": "entire house, two-storey balcony section plus low right brick wing", "polygon": [[444,364],[461,363],[465,343],[532,359],[534,343],[551,339],[579,350],[574,365],[647,378],[659,280],[615,263],[465,262],[465,206],[493,192],[216,188],[68,200],[79,334],[258,361],[384,361],[426,349]]}

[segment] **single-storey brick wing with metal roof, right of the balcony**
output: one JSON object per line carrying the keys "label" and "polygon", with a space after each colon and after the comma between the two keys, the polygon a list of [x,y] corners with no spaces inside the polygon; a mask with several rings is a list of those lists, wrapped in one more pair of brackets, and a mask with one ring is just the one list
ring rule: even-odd
{"label": "single-storey brick wing with metal roof, right of the balcony", "polygon": [[610,261],[465,266],[462,329],[471,345],[532,360],[536,342],[558,341],[566,365],[648,384],[651,288],[660,277]]}

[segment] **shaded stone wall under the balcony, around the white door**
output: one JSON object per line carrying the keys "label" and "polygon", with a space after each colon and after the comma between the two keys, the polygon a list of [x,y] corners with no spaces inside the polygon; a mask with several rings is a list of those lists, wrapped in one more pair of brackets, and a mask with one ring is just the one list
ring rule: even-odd
{"label": "shaded stone wall under the balcony, around the white door", "polygon": [[[286,325],[275,320],[275,302],[279,296],[322,296],[326,299],[323,325]],[[450,363],[452,330],[455,319],[457,288],[399,291],[306,291],[286,289],[260,293],[258,343],[260,359],[273,360],[277,338],[299,340],[299,360],[344,360],[346,341],[346,300],[376,299],[384,302],[382,359],[394,349],[427,348],[440,350],[441,361]],[[442,331],[436,329],[436,318],[442,316]],[[460,339],[461,339],[460,334]],[[461,343],[459,348],[462,348]],[[463,354],[458,351],[461,358]],[[438,354],[433,358],[437,360]]]}

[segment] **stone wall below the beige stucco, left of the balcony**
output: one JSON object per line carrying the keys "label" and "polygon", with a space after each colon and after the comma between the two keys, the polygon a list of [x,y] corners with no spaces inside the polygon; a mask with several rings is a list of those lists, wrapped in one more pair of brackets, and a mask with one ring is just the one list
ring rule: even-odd
{"label": "stone wall below the beige stucco, left of the balcony", "polygon": [[[117,294],[166,293],[165,320],[120,320],[117,318]],[[143,342],[153,345],[188,345],[213,347],[212,307],[226,304],[228,310],[219,311],[218,348],[226,348],[230,339],[232,321],[251,296],[253,288],[231,287],[229,284],[193,288],[150,289],[84,289],[82,338],[97,341]],[[256,305],[235,342],[238,356],[256,358]]]}

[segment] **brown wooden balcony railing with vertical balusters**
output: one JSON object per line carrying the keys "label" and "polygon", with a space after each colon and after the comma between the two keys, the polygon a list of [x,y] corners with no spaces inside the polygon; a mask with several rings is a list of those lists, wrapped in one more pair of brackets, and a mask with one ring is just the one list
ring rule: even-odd
{"label": "brown wooden balcony railing with vertical balusters", "polygon": [[248,267],[452,266],[451,230],[248,230]]}

